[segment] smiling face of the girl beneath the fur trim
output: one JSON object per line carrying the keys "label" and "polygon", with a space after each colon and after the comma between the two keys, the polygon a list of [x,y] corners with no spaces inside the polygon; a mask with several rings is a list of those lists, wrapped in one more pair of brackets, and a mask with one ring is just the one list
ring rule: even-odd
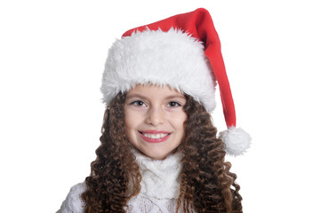
{"label": "smiling face of the girl beneath the fur trim", "polygon": [[163,160],[184,136],[185,97],[170,87],[136,85],[127,92],[124,121],[129,141],[141,153]]}

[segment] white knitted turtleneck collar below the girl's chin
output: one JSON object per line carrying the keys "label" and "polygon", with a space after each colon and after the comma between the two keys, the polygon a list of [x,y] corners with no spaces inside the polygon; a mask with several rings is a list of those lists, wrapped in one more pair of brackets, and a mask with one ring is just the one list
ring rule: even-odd
{"label": "white knitted turtleneck collar below the girl's chin", "polygon": [[168,155],[165,160],[153,160],[136,150],[132,153],[140,166],[140,195],[156,199],[178,198],[183,154],[175,153]]}

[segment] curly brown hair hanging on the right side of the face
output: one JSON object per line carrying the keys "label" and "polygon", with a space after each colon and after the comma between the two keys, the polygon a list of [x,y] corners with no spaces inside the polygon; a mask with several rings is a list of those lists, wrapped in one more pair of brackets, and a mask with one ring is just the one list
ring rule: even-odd
{"label": "curly brown hair hanging on the right side of the face", "polygon": [[224,160],[225,144],[216,138],[211,114],[190,96],[186,99],[185,137],[178,149],[184,156],[177,209],[182,204],[184,212],[241,213],[237,175],[229,172],[231,164]]}

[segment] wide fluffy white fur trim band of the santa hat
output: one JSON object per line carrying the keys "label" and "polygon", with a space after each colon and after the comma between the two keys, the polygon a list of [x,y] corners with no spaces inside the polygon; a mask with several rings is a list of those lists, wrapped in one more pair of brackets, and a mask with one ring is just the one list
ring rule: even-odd
{"label": "wide fluffy white fur trim band of the santa hat", "polygon": [[169,85],[192,96],[208,112],[215,107],[215,77],[204,46],[178,29],[147,28],[113,43],[100,87],[103,102],[108,104],[118,92],[139,83]]}

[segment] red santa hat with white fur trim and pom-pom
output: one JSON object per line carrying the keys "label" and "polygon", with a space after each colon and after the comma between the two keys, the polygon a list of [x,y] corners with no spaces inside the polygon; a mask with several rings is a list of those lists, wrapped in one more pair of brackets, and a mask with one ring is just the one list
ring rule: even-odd
{"label": "red santa hat with white fur trim and pom-pom", "polygon": [[215,85],[228,130],[220,133],[230,155],[244,154],[251,138],[236,128],[236,112],[221,56],[221,43],[209,12],[199,8],[132,28],[108,51],[100,91],[107,105],[136,84],[169,85],[205,106],[215,107]]}

